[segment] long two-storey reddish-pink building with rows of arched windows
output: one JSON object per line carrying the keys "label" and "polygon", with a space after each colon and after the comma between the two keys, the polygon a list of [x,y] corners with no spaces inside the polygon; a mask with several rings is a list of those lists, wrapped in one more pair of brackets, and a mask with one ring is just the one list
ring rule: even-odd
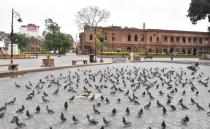
{"label": "long two-storey reddish-pink building with rows of arched windows", "polygon": [[[210,52],[210,35],[208,32],[121,28],[120,26],[97,27],[101,30],[106,50],[114,52],[152,52],[182,53],[197,55]],[[95,51],[95,30],[84,27],[80,33],[80,50],[83,54]]]}

